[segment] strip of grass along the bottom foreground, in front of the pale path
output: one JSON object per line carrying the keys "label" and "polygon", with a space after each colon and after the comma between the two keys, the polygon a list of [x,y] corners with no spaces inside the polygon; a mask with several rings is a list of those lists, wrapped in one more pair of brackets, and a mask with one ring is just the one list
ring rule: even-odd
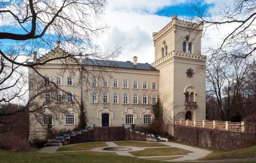
{"label": "strip of grass along the bottom foreground, in front of the pale path", "polygon": [[1,152],[2,162],[157,162],[153,160],[144,160],[129,156],[120,156],[109,152],[72,152],[72,153],[36,153],[36,152]]}

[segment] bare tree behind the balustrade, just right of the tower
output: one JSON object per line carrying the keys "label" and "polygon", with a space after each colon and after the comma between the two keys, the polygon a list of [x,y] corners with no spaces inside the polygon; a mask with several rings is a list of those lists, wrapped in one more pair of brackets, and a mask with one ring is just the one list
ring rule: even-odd
{"label": "bare tree behind the balustrade, just right of the tower", "polygon": [[215,61],[206,68],[210,101],[214,102],[222,121],[241,114],[241,91],[247,84],[249,67],[243,59]]}

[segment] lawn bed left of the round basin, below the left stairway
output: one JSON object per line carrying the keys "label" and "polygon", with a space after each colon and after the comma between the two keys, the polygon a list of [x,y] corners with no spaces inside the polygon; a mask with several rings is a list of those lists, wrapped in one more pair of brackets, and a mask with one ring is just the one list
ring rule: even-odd
{"label": "lawn bed left of the round basin, below the left stairway", "polygon": [[97,147],[106,147],[108,146],[105,142],[89,142],[82,143],[75,146],[63,146],[60,147],[57,151],[79,151],[79,150],[88,150]]}

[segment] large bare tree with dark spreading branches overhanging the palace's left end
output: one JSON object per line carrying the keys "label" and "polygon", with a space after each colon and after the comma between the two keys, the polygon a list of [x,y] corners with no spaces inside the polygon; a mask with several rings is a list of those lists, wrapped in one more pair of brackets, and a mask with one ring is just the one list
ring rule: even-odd
{"label": "large bare tree with dark spreading branches overhanging the palace's left end", "polygon": [[[102,26],[100,19],[106,0],[4,0],[0,4],[0,103],[26,104],[13,111],[2,111],[0,108],[0,117],[19,112],[40,112],[41,108],[46,107],[53,108],[53,112],[62,111],[58,104],[51,103],[54,98],[36,103],[36,98],[45,98],[45,93],[55,95],[57,90],[64,92],[64,96],[69,96],[67,90],[48,80],[39,71],[39,67],[59,60],[62,66],[59,67],[59,73],[68,72],[73,75],[78,72],[79,81],[84,82],[88,80],[84,77],[94,76],[81,64],[85,55],[90,55],[93,59],[110,60],[120,52],[120,48],[115,48],[113,52],[102,53],[100,46],[95,43],[107,28]],[[49,57],[41,49],[54,50],[48,52],[51,53]],[[33,70],[30,79],[33,83],[29,83],[32,93],[28,99],[27,67]],[[72,97],[74,101],[70,105],[81,102],[77,95]],[[26,109],[27,106],[29,110]]]}

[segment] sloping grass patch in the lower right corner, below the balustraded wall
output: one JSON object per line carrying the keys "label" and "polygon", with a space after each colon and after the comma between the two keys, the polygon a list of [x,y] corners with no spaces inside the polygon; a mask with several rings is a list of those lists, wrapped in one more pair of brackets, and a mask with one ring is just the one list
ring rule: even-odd
{"label": "sloping grass patch in the lower right corner, below the balustraded wall", "polygon": [[256,146],[237,149],[234,151],[218,151],[201,158],[200,160],[227,159],[227,158],[252,158],[256,157]]}

